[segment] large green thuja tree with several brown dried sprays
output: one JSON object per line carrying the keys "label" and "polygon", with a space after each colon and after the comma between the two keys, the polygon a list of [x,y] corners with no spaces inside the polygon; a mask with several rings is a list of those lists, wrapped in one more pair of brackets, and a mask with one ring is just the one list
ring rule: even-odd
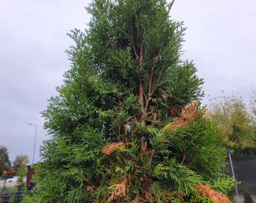
{"label": "large green thuja tree with several brown dried sprays", "polygon": [[180,60],[181,22],[164,0],[94,1],[74,30],[71,69],[46,111],[36,188],[23,202],[230,202],[225,150]]}

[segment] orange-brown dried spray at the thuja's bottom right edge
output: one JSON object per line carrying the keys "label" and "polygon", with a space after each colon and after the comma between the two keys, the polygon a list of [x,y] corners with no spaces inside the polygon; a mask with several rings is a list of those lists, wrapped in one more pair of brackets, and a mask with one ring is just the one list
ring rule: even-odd
{"label": "orange-brown dried spray at the thuja's bottom right edge", "polygon": [[214,202],[231,203],[225,194],[212,190],[210,185],[197,184],[195,188],[200,194],[203,194],[203,196],[210,198]]}

